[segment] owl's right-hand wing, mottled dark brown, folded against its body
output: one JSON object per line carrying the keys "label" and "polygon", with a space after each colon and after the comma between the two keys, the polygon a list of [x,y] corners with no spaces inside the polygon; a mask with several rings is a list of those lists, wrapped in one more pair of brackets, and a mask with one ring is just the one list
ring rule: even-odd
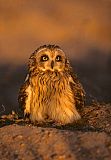
{"label": "owl's right-hand wing, mottled dark brown, folded against its body", "polygon": [[72,72],[70,73],[70,75],[71,76],[69,77],[69,83],[75,97],[76,107],[78,109],[82,109],[85,103],[85,91],[82,84],[79,82],[77,75],[73,74]]}

